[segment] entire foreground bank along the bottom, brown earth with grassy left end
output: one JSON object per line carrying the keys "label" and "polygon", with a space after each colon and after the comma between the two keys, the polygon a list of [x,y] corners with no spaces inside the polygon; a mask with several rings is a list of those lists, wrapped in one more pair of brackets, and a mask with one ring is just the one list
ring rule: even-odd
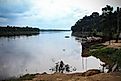
{"label": "entire foreground bank along the bottom, brown earth with grassy left end", "polygon": [[[90,71],[91,73],[91,71]],[[93,72],[94,73],[94,72]],[[112,73],[96,73],[92,75],[83,75],[84,73],[53,73],[53,74],[26,74],[19,79],[11,79],[4,81],[121,81],[120,72]],[[85,74],[89,74],[87,71]]]}

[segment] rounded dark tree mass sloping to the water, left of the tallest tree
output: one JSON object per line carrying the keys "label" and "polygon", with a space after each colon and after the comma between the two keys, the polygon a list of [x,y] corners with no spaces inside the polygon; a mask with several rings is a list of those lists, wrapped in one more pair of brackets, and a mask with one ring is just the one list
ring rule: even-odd
{"label": "rounded dark tree mass sloping to the water, left of the tallest tree", "polygon": [[[85,16],[82,19],[78,20],[74,26],[72,26],[71,30],[73,32],[76,31],[83,31],[83,32],[90,32],[92,28],[95,28],[99,23],[99,13],[93,12],[90,16]],[[94,30],[94,29],[93,29]]]}

